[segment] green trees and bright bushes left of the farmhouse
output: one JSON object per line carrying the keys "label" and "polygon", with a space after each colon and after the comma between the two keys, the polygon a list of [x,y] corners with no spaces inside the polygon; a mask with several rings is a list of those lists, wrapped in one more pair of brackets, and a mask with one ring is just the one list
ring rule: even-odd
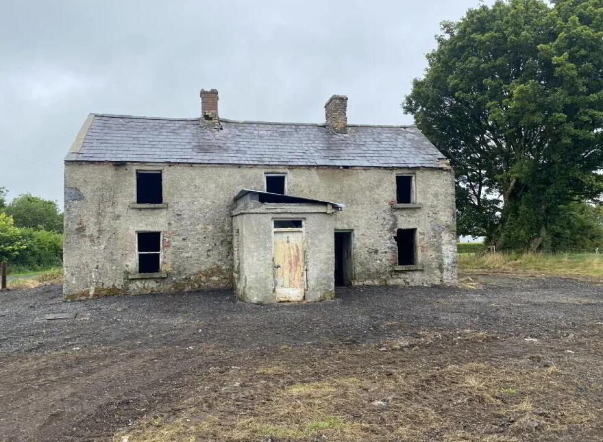
{"label": "green trees and bright bushes left of the farmhouse", "polygon": [[6,204],[0,187],[0,261],[9,273],[58,267],[63,260],[63,214],[55,201],[25,193]]}

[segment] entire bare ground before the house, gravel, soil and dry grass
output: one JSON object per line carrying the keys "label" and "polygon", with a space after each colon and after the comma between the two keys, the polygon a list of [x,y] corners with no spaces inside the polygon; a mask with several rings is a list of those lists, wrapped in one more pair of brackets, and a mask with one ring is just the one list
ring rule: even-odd
{"label": "entire bare ground before the house, gravel, soil and dry grass", "polygon": [[471,278],[272,306],[1,293],[0,440],[603,440],[603,287]]}

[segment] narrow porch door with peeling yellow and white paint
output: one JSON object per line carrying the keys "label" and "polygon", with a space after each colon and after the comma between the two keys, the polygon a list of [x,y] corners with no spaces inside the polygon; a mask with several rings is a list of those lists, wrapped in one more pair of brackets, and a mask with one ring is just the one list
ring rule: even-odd
{"label": "narrow porch door with peeling yellow and white paint", "polygon": [[306,244],[302,230],[274,231],[276,300],[303,301],[306,293]]}

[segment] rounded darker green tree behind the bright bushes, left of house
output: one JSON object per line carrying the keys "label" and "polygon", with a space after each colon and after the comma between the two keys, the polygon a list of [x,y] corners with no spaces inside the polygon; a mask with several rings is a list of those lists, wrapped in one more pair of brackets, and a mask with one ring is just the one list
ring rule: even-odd
{"label": "rounded darker green tree behind the bright bushes, left of house", "polygon": [[10,201],[3,212],[14,219],[20,228],[63,232],[63,214],[55,201],[23,193]]}

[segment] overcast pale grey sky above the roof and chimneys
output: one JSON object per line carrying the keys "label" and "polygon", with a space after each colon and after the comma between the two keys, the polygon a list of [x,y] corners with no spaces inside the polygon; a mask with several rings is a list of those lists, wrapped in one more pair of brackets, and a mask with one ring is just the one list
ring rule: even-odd
{"label": "overcast pale grey sky above the roof and chimneys", "polygon": [[[491,3],[489,1],[488,3]],[[400,109],[443,20],[478,0],[0,0],[0,186],[62,206],[62,159],[89,112],[413,123]]]}

